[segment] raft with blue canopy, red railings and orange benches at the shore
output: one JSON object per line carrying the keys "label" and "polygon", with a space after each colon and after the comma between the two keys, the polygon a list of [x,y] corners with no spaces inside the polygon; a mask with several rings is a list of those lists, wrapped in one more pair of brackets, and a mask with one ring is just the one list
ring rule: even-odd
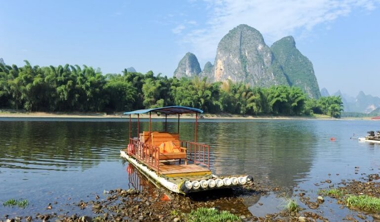
{"label": "raft with blue canopy, red railings and orange benches at the shore", "polygon": [[[152,131],[152,112],[165,116],[162,132]],[[149,113],[149,129],[140,129],[140,114]],[[180,140],[180,116],[195,114],[194,141]],[[210,146],[197,142],[198,114],[202,110],[170,106],[124,112],[129,115],[129,143],[120,150],[128,160],[150,181],[172,192],[189,194],[212,189],[241,186],[253,183],[250,175],[217,176],[210,170]],[[131,115],[137,114],[137,132],[132,137]],[[177,132],[167,131],[168,115],[178,115]]]}

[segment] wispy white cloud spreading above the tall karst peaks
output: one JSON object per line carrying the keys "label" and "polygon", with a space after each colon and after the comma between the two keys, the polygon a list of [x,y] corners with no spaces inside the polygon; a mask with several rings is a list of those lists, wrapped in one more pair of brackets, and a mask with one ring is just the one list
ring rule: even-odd
{"label": "wispy white cloud spreading above the tall karst peaks", "polygon": [[[307,36],[316,25],[347,16],[354,9],[373,10],[379,0],[205,0],[208,20],[182,39],[197,57],[210,59],[220,39],[239,24],[259,30],[269,43],[288,35]],[[183,26],[174,30],[182,32]],[[173,30],[173,33],[174,33]]]}

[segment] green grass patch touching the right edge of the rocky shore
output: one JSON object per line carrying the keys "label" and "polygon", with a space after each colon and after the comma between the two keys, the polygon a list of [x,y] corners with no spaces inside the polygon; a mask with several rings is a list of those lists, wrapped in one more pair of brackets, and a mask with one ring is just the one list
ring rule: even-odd
{"label": "green grass patch touching the right edge of the rocky shore", "polygon": [[380,211],[380,198],[371,197],[368,195],[349,195],[345,198],[347,207],[355,207],[365,211],[379,212]]}

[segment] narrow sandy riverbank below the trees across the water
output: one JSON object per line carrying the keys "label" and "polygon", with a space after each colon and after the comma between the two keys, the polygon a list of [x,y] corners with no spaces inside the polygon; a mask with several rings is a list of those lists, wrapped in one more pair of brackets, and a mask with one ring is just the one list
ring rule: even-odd
{"label": "narrow sandy riverbank below the trees across the water", "polygon": [[[0,117],[11,118],[128,118],[123,112],[27,112],[14,110],[0,110]],[[132,115],[136,117],[136,115]],[[162,115],[152,114],[152,118],[162,118]],[[183,114],[182,118],[193,118],[193,114]],[[140,114],[140,118],[149,118],[149,114]],[[168,118],[177,118],[177,116],[168,115]],[[338,120],[328,115],[314,114],[313,116],[277,116],[277,115],[239,115],[239,114],[210,114],[203,113],[200,118],[204,119],[323,119],[323,120]],[[346,120],[359,119],[370,120],[371,118],[342,118]]]}

